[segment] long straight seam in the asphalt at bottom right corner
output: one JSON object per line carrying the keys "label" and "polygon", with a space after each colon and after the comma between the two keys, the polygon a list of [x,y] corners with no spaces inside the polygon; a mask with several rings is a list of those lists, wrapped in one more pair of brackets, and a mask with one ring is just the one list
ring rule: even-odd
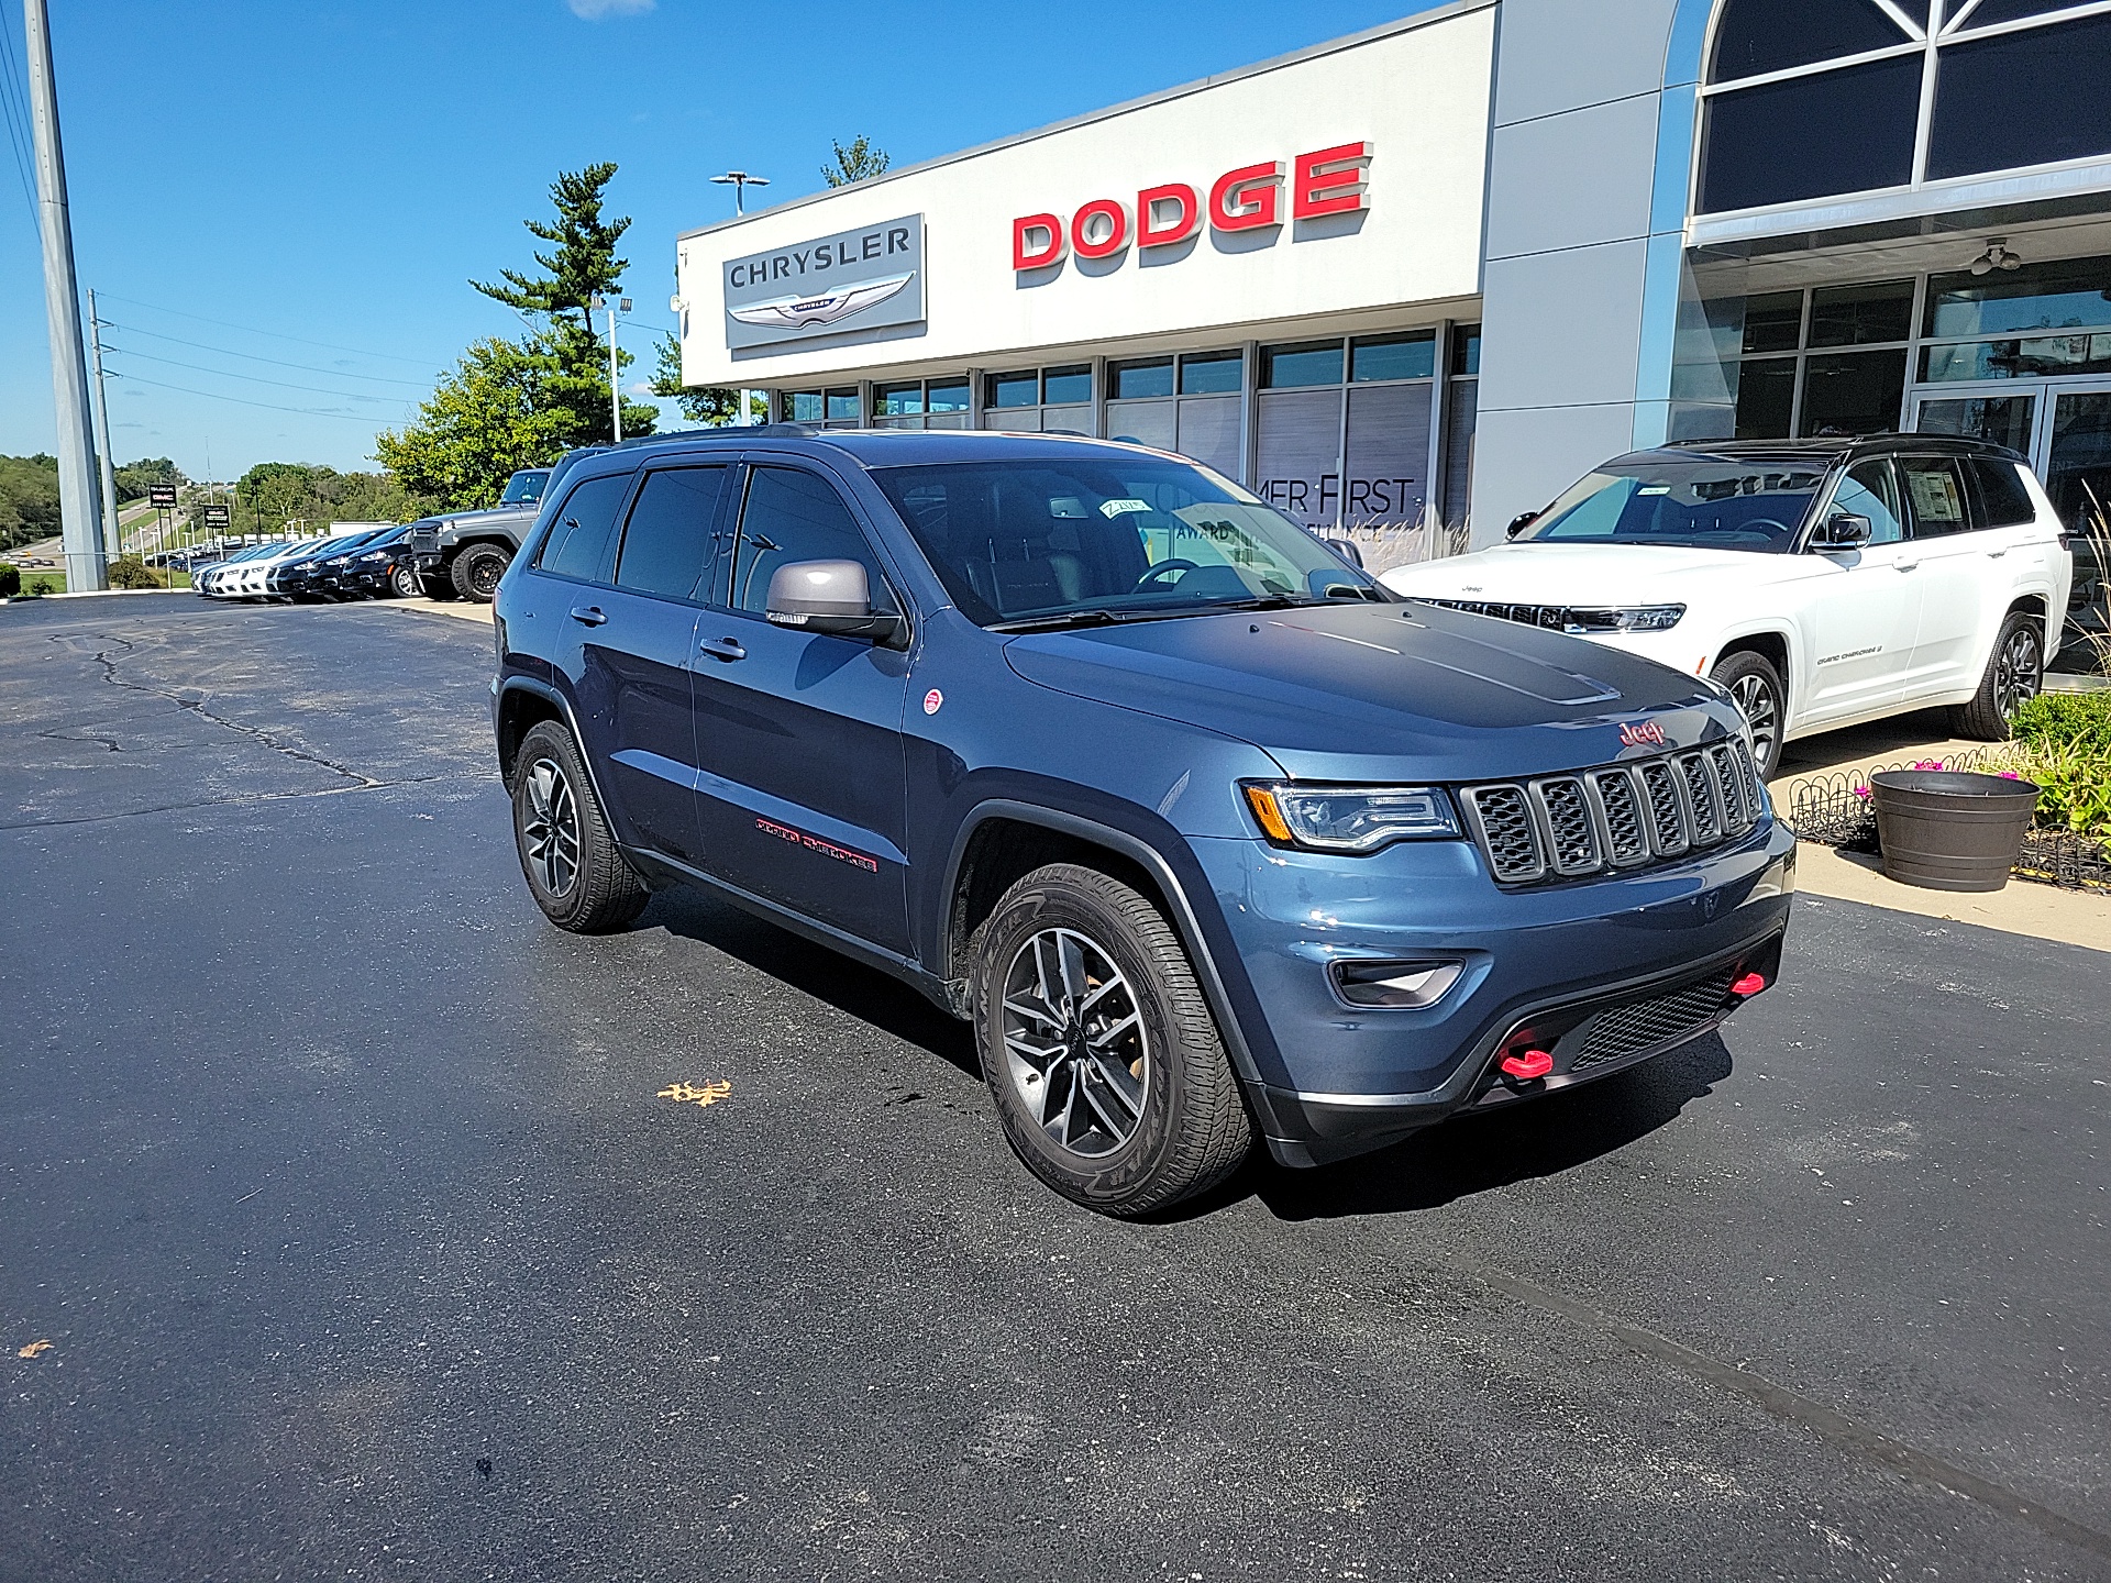
{"label": "long straight seam in the asphalt at bottom right corner", "polygon": [[2052,1511],[2001,1484],[1982,1480],[1978,1473],[1967,1473],[1955,1463],[1944,1463],[1940,1456],[1929,1456],[1915,1446],[1891,1439],[1864,1423],[1856,1423],[1853,1418],[1834,1412],[1822,1401],[1811,1401],[1807,1395],[1801,1395],[1786,1385],[1775,1385],[1765,1374],[1754,1374],[1752,1370],[1737,1368],[1735,1363],[1723,1363],[1720,1359],[1697,1353],[1670,1336],[1659,1336],[1655,1330],[1630,1325],[1623,1319],[1615,1319],[1613,1315],[1594,1309],[1583,1298],[1526,1281],[1524,1277],[1511,1275],[1495,1264],[1486,1264],[1471,1254],[1448,1254],[1442,1262],[1454,1273],[1480,1281],[1516,1302],[1539,1309],[1541,1313],[1558,1315],[1585,1330],[1606,1334],[1621,1342],[1628,1351],[1640,1353],[1657,1363],[1668,1363],[1687,1378],[1744,1397],[1782,1423],[1809,1429],[1820,1439],[1853,1452],[1864,1461],[1877,1463],[1879,1467],[1885,1467],[1915,1484],[1976,1501],[2005,1518],[2014,1518],[2016,1522],[2037,1528],[2050,1539],[2058,1539],[2075,1549],[2086,1549],[2092,1556],[2111,1558],[2111,1534]]}

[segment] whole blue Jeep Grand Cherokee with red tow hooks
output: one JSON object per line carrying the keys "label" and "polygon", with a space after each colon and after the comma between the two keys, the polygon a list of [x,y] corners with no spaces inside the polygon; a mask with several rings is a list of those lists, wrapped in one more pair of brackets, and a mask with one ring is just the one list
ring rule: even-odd
{"label": "whole blue Jeep Grand Cherokee with red tow hooks", "polygon": [[1794,889],[1718,686],[1402,602],[1136,445],[574,452],[494,711],[553,922],[690,882],[908,979],[1123,1216],[1693,1038]]}

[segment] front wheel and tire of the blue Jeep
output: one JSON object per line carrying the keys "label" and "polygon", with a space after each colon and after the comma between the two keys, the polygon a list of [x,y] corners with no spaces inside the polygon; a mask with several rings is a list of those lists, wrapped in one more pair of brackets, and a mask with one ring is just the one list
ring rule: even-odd
{"label": "front wheel and tire of the blue Jeep", "polygon": [[[1005,1138],[1072,1203],[1153,1214],[1216,1186],[1252,1152],[1195,969],[1127,884],[1072,863],[1034,870],[975,931],[969,973]],[[1079,1017],[1079,1000],[1104,1013]],[[1070,1041],[1039,1043],[1051,1032]]]}

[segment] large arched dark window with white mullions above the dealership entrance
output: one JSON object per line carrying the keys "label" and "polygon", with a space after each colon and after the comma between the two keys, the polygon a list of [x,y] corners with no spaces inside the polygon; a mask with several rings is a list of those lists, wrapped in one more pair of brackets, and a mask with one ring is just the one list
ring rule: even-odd
{"label": "large arched dark window with white mullions above the dealership entrance", "polygon": [[1723,0],[1699,213],[2111,154],[2107,72],[2084,0]]}

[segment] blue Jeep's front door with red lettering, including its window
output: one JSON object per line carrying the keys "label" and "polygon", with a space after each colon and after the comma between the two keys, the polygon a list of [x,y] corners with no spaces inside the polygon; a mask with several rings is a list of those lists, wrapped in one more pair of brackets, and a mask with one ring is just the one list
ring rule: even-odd
{"label": "blue Jeep's front door with red lettering, including its window", "polygon": [[908,654],[764,618],[779,566],[857,559],[878,593],[885,559],[834,479],[790,458],[747,464],[733,542],[697,631],[705,867],[908,956]]}

